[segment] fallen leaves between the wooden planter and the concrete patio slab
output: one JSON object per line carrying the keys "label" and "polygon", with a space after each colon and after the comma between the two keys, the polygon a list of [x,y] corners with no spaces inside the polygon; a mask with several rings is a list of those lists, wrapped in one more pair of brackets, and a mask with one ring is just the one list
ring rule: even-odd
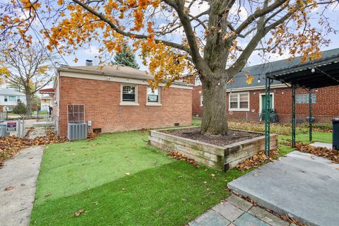
{"label": "fallen leaves between the wooden planter and the concrete patio slab", "polygon": [[261,150],[258,154],[249,157],[243,162],[240,162],[239,165],[237,165],[237,169],[239,171],[245,171],[246,169],[261,165],[263,162],[273,161],[274,155],[278,154],[278,150],[270,150],[270,156],[268,157],[267,155],[265,155],[264,151]]}

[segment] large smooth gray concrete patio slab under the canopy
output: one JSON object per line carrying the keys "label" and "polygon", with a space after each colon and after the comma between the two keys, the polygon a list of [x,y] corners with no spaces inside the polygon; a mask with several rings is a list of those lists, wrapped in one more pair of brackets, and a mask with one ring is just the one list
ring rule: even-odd
{"label": "large smooth gray concrete patio slab under the canopy", "polygon": [[[228,184],[276,213],[306,225],[338,226],[339,165],[294,151]],[[236,225],[236,224],[234,224]]]}

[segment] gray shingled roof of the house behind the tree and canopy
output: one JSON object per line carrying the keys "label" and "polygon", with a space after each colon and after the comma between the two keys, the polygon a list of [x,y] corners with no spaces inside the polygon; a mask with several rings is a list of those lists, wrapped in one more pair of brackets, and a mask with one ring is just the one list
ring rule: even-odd
{"label": "gray shingled roof of the house behind the tree and canopy", "polygon": [[[339,48],[331,49],[323,52],[321,59],[326,59],[329,57],[339,56]],[[241,72],[237,73],[234,76],[234,82],[227,85],[227,89],[234,88],[251,88],[255,86],[265,86],[266,73],[270,71],[277,71],[280,69],[287,69],[292,66],[297,66],[300,64],[300,57],[292,59],[292,61],[287,61],[286,59],[280,61],[272,61],[266,64],[258,64],[255,66],[249,66],[242,69]],[[246,73],[250,76],[254,76],[254,80],[251,84],[246,83]],[[260,83],[258,83],[258,78],[260,77]],[[274,81],[273,84],[281,84],[279,81]]]}

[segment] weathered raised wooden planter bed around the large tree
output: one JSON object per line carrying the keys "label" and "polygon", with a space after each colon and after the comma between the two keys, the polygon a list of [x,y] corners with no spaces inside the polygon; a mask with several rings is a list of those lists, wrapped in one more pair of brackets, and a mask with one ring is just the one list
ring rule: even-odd
{"label": "weathered raised wooden planter bed around the large tree", "polygon": [[[200,164],[208,165],[209,167],[220,169],[224,172],[236,167],[239,162],[246,160],[246,158],[255,155],[265,148],[264,133],[260,133],[263,136],[220,146],[163,132],[168,130],[169,129],[151,130],[148,138],[150,145],[167,151],[177,151],[187,157],[193,158]],[[254,133],[250,131],[246,132]],[[278,135],[271,134],[270,148],[277,148],[277,145]]]}

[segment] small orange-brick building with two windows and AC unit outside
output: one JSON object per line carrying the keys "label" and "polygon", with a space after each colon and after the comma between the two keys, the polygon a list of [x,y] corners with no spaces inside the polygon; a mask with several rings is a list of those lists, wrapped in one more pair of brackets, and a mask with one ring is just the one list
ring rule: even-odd
{"label": "small orange-brick building with two windows and AC unit outside", "polygon": [[127,66],[62,66],[54,84],[58,130],[67,135],[68,122],[86,122],[95,131],[114,132],[192,121],[193,85],[174,82],[156,90],[153,77]]}

